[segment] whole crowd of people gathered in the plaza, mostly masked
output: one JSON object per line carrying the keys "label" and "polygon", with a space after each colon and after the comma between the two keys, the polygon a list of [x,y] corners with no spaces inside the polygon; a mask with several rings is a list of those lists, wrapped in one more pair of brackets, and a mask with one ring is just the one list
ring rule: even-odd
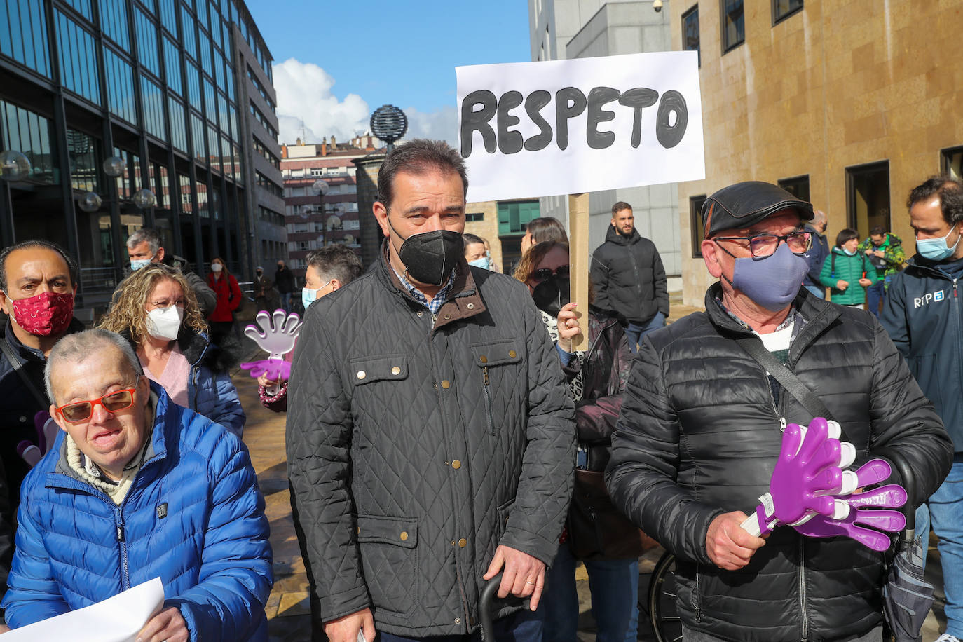
{"label": "whole crowd of people gathered in the plaza, mostly masked", "polygon": [[[590,257],[569,254],[560,221],[534,219],[502,274],[465,233],[468,176],[449,145],[398,145],[377,183],[379,258],[363,270],[342,245],[308,255],[290,376],[257,381],[287,413],[305,639],[468,639],[493,581],[486,634],[574,640],[582,562],[597,638],[631,642],[638,557],[658,543],[676,556],[687,642],[881,640],[890,554],[741,526],[814,398],[858,462],[891,465],[918,530],[932,524],[941,641],[963,639],[959,181],[910,194],[908,261],[880,227],[862,242],[843,229],[830,248],[810,203],[725,187],[702,210],[717,282],[704,311],[671,324],[629,203]],[[172,265],[153,230],[127,247],[131,272],[94,329],[73,316],[63,248],[0,252],[6,626],[159,577],[164,607],[139,641],[266,640],[269,525],[221,349],[244,295],[220,258],[206,279]],[[571,300],[573,268],[589,273],[585,301]],[[290,312],[296,285],[278,262],[253,294]],[[25,443],[46,451],[33,467]]]}

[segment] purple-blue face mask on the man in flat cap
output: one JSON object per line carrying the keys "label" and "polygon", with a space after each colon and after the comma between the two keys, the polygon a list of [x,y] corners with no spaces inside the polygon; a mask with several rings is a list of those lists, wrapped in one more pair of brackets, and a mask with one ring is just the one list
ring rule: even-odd
{"label": "purple-blue face mask on the man in flat cap", "polygon": [[732,286],[767,310],[778,312],[799,293],[807,271],[805,255],[794,254],[789,245],[781,243],[765,259],[736,259]]}

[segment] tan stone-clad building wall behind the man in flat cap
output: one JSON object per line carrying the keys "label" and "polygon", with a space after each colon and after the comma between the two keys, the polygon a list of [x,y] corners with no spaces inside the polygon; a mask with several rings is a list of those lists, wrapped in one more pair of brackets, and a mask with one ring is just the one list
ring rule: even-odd
{"label": "tan stone-clad building wall behind the man in flat cap", "polygon": [[[674,49],[692,6],[667,8]],[[963,145],[963,0],[806,0],[774,25],[770,3],[746,2],[745,41],[724,55],[719,4],[698,10],[706,180],[679,185],[685,302],[701,304],[714,281],[693,258],[690,197],[738,181],[808,175],[833,239],[850,222],[846,168],[887,161],[891,229],[910,255],[906,196],[940,171],[942,149]]]}

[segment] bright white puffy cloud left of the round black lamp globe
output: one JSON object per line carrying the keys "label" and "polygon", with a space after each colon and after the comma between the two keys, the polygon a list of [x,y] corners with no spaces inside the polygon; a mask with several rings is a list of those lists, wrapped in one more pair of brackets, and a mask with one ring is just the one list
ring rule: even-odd
{"label": "bright white puffy cloud left of the round black lamp globe", "polygon": [[273,72],[278,141],[321,142],[332,135],[339,141],[348,141],[368,131],[368,103],[356,93],[339,100],[331,93],[334,78],[317,64],[289,58],[274,64]]}

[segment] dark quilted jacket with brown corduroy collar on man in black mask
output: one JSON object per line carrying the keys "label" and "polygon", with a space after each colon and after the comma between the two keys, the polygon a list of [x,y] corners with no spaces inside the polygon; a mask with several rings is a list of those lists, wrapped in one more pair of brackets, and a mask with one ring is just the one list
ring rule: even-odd
{"label": "dark quilted jacket with brown corduroy collar on man in black mask", "polygon": [[434,321],[383,259],[307,311],[288,473],[325,622],[371,605],[378,630],[466,633],[499,544],[558,549],[575,461],[559,357],[524,285],[457,274]]}

